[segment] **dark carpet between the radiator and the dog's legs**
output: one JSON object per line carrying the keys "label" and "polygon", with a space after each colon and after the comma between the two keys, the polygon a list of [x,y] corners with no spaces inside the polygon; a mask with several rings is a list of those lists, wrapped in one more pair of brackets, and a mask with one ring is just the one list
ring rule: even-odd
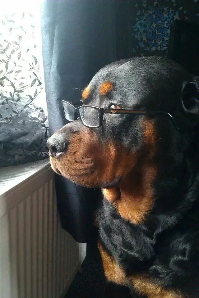
{"label": "dark carpet between the radiator and the dog's legs", "polygon": [[93,228],[87,242],[86,258],[65,298],[132,298],[126,287],[117,287],[106,282],[97,247],[98,230]]}

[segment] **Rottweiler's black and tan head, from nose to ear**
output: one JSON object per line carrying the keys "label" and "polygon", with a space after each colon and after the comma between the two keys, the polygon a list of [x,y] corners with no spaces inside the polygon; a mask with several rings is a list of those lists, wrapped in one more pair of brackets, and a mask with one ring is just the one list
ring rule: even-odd
{"label": "Rottweiler's black and tan head, from nose to ear", "polygon": [[198,90],[196,78],[160,57],[105,66],[84,89],[83,105],[168,112],[180,130],[163,115],[104,114],[99,128],[88,128],[78,119],[48,139],[53,169],[83,186],[111,187],[138,164],[184,150],[187,132],[197,122]]}

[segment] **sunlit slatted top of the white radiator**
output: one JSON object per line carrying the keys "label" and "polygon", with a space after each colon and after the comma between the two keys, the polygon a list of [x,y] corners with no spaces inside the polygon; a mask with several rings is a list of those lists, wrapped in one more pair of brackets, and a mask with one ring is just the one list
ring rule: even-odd
{"label": "sunlit slatted top of the white radiator", "polygon": [[31,188],[33,188],[35,181],[32,179],[45,172],[53,176],[49,159],[39,160],[25,165],[0,168],[0,200],[10,193],[15,192],[24,183],[30,183]]}

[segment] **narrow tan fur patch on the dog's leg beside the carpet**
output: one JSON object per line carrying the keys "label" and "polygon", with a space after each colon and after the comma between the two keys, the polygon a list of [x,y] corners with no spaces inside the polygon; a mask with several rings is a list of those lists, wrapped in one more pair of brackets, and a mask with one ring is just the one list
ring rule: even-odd
{"label": "narrow tan fur patch on the dog's leg beside the carpet", "polygon": [[115,282],[120,285],[125,285],[127,283],[125,273],[120,265],[110,257],[109,254],[103,249],[100,242],[98,241],[98,248],[102,258],[104,273],[106,278],[110,282]]}

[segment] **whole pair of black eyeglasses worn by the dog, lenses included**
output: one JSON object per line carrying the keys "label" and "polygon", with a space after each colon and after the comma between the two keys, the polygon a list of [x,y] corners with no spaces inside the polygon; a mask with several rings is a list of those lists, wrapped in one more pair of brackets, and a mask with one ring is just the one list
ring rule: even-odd
{"label": "whole pair of black eyeglasses worn by the dog, lenses included", "polygon": [[65,118],[72,122],[81,119],[82,124],[87,127],[100,127],[103,122],[104,114],[128,114],[128,115],[162,115],[169,117],[169,119],[174,124],[175,128],[179,130],[178,124],[174,120],[171,114],[162,111],[142,111],[142,110],[123,110],[123,109],[103,109],[97,106],[79,106],[75,108],[70,102],[62,100],[63,111]]}

